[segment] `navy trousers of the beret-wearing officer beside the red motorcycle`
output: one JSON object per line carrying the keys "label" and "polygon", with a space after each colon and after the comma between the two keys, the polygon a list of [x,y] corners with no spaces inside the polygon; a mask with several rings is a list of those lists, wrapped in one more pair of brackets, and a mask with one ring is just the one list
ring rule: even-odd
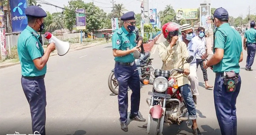
{"label": "navy trousers of the beret-wearing officer beside the red motorcycle", "polygon": [[136,64],[133,66],[122,66],[115,64],[115,78],[118,80],[118,105],[121,122],[127,121],[127,109],[128,109],[128,86],[132,90],[131,95],[131,115],[138,115],[140,98],[141,98],[141,87],[138,71]]}

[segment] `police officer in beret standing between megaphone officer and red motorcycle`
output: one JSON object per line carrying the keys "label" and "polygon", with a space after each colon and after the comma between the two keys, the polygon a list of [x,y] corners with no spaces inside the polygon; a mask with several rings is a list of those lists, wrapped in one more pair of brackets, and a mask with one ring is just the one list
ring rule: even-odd
{"label": "police officer in beret standing between megaphone officer and red motorcycle", "polygon": [[128,86],[132,90],[131,95],[131,110],[130,119],[137,121],[146,121],[138,115],[140,106],[140,80],[138,71],[134,71],[136,64],[133,56],[134,51],[141,51],[136,46],[136,33],[135,29],[135,16],[134,12],[130,11],[122,15],[123,21],[122,28],[118,29],[112,36],[113,55],[115,56],[115,78],[119,83],[119,114],[121,129],[128,131],[126,124],[127,121],[127,108],[128,108]]}

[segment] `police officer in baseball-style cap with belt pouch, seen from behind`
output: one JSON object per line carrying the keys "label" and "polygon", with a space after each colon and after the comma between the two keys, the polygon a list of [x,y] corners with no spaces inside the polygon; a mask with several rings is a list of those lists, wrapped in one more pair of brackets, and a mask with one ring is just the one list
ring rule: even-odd
{"label": "police officer in baseball-style cap with belt pouch, seen from behind", "polygon": [[230,27],[228,12],[220,7],[214,11],[214,55],[204,68],[213,66],[216,73],[214,104],[222,135],[237,135],[236,100],[241,88],[239,62],[243,60],[242,38]]}

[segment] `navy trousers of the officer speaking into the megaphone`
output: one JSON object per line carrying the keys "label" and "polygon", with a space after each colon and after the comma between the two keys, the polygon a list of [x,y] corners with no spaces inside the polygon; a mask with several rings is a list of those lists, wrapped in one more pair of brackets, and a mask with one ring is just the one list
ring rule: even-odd
{"label": "navy trousers of the officer speaking into the megaphone", "polygon": [[44,79],[25,79],[21,78],[21,84],[30,104],[30,113],[32,118],[33,133],[38,131],[41,135],[45,135],[45,106],[46,91]]}

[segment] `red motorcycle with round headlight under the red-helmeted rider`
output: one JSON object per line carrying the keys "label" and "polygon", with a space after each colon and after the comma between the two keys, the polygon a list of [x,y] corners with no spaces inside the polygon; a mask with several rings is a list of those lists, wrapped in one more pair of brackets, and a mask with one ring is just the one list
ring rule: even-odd
{"label": "red motorcycle with round headlight under the red-helmeted rider", "polygon": [[[190,63],[193,56],[189,56],[186,62]],[[147,66],[154,69],[153,66]],[[143,67],[142,67],[143,68]],[[186,117],[187,108],[182,98],[176,79],[172,76],[174,73],[183,73],[183,69],[154,71],[154,80],[144,81],[144,84],[152,84],[153,90],[148,92],[151,98],[146,99],[149,106],[147,133],[149,135],[161,135],[163,124],[180,124]]]}

